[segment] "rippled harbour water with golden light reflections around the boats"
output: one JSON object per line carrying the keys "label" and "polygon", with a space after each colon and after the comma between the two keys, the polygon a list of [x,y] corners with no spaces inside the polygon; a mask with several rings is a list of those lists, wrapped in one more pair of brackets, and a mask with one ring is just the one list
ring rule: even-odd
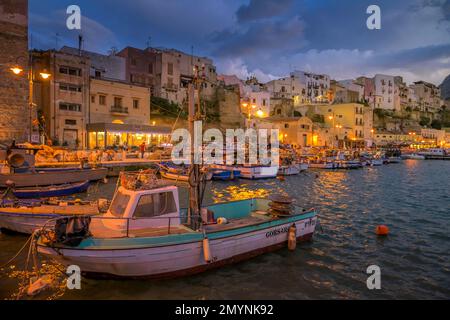
{"label": "rippled harbour water with golden light reflections around the boats", "polygon": [[[111,196],[114,181],[100,187]],[[288,194],[319,211],[314,241],[197,276],[164,281],[83,279],[65,299],[450,299],[450,162],[404,161],[309,171],[285,181],[213,182],[207,202]],[[92,191],[92,190],[91,190]],[[89,194],[94,198],[96,194]],[[182,204],[187,203],[182,192]],[[374,229],[386,224],[390,234]],[[27,237],[0,235],[0,264]],[[381,268],[381,290],[366,269]],[[0,298],[16,289],[0,275]]]}

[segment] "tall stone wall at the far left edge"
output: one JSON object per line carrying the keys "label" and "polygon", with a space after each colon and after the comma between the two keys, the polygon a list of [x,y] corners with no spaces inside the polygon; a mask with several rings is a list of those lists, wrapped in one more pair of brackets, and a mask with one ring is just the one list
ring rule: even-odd
{"label": "tall stone wall at the far left edge", "polygon": [[[0,2],[0,142],[27,140],[28,109],[28,1]],[[10,71],[14,65],[21,75]]]}

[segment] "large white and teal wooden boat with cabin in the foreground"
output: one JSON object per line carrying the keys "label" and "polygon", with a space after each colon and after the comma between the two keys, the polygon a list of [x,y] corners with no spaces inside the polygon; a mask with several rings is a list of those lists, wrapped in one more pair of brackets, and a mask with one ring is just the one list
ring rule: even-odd
{"label": "large white and teal wooden boat with cabin in the foreground", "polygon": [[120,186],[108,212],[93,217],[84,230],[91,236],[70,246],[43,232],[38,252],[66,266],[77,265],[91,276],[166,278],[285,247],[288,237],[309,240],[315,231],[314,209],[292,206],[287,214],[270,214],[269,199],[214,204],[202,207],[201,216],[195,217],[180,209],[176,186],[135,177],[154,182]]}

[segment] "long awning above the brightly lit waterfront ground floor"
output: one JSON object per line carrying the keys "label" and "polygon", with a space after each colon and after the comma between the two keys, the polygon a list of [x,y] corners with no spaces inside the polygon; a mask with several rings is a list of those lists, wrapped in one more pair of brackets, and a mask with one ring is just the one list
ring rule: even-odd
{"label": "long awning above the brightly lit waterfront ground floor", "polygon": [[91,123],[86,126],[86,129],[88,132],[117,132],[164,135],[169,135],[172,133],[172,129],[170,127],[119,123]]}

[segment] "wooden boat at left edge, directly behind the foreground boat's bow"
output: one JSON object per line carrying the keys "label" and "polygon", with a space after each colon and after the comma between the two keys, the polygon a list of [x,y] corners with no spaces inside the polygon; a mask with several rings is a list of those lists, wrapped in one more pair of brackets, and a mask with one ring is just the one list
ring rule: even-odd
{"label": "wooden boat at left edge, directly behind the foreground boat's bow", "polygon": [[44,226],[53,226],[59,217],[96,215],[98,205],[89,202],[45,202],[39,200],[3,200],[0,228],[31,234]]}

